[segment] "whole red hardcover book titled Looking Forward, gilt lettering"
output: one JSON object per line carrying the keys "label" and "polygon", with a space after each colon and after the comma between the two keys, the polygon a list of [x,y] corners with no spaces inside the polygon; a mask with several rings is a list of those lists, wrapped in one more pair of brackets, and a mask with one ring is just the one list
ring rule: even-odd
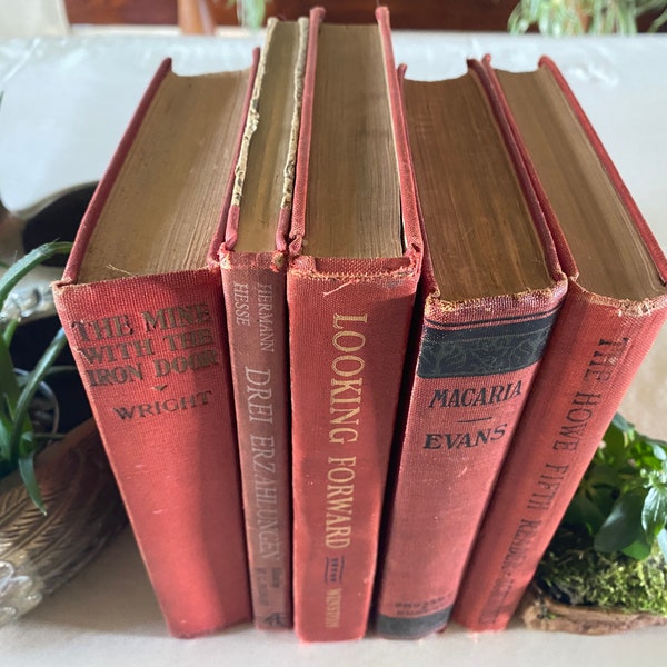
{"label": "whole red hardcover book titled Looking Forward, gilt lettering", "polygon": [[421,239],[386,8],[310,16],[287,293],[295,628],[361,638]]}

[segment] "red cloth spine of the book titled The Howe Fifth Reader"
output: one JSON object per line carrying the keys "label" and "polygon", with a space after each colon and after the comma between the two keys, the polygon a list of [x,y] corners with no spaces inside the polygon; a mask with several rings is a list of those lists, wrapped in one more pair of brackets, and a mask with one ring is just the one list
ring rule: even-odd
{"label": "red cloth spine of the book titled The Howe Fifth Reader", "polygon": [[465,574],[454,618],[509,623],[665,308],[610,302],[571,283]]}

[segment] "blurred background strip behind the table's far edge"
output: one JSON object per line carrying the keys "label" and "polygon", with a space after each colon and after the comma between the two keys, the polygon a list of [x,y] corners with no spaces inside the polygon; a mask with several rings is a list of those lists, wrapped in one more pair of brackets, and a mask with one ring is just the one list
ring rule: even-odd
{"label": "blurred background strip behind the table's far edge", "polygon": [[[257,28],[269,16],[293,20],[312,4],[330,22],[372,21],[376,0],[0,0],[0,37],[81,28],[162,27],[212,34]],[[395,29],[634,33],[665,30],[667,0],[386,0]]]}

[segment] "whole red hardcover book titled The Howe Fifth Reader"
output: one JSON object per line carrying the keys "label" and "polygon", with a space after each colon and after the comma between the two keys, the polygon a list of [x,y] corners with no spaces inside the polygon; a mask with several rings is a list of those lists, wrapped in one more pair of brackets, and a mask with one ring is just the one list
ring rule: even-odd
{"label": "whole red hardcover book titled The Howe Fifth Reader", "polygon": [[568,293],[454,617],[507,626],[667,315],[667,262],[565,79],[485,70],[534,180]]}

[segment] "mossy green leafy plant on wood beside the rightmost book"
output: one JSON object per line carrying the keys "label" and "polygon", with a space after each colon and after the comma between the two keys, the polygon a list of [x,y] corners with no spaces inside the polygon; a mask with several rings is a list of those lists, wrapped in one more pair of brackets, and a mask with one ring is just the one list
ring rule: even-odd
{"label": "mossy green leafy plant on wood beside the rightmost book", "polygon": [[615,417],[521,614],[580,634],[667,624],[667,442]]}

